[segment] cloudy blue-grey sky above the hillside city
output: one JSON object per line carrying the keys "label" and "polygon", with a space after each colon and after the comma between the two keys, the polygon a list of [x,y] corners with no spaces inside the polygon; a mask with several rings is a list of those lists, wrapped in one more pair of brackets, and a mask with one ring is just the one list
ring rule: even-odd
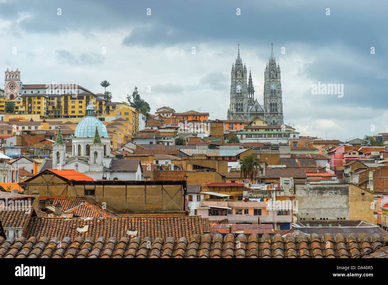
{"label": "cloudy blue-grey sky above the hillside city", "polygon": [[[114,101],[137,86],[151,113],[167,105],[226,119],[237,43],[261,104],[274,43],[284,123],[345,141],[388,131],[387,8],[354,0],[0,0],[0,70],[18,67],[24,84],[75,83],[94,93],[108,80]],[[318,81],[343,84],[343,97],[312,94]]]}

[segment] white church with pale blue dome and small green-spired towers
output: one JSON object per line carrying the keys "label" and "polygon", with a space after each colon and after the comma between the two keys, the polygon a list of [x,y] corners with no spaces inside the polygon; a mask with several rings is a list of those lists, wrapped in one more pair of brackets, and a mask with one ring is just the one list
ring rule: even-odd
{"label": "white church with pale blue dome and small green-spired towers", "polygon": [[39,171],[47,168],[74,169],[94,180],[142,180],[139,159],[111,157],[106,127],[94,117],[94,111],[94,107],[89,104],[86,108],[87,116],[78,123],[74,131],[74,137],[71,138],[72,156],[66,157],[66,146],[59,130],[52,145],[52,161],[46,161]]}

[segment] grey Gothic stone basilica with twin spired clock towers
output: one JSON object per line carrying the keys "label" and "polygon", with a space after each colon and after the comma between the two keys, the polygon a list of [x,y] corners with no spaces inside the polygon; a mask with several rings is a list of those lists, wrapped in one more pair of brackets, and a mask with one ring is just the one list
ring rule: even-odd
{"label": "grey Gothic stone basilica with twin spired clock towers", "polygon": [[282,86],[280,81],[280,66],[276,66],[274,51],[271,49],[271,57],[264,71],[264,104],[263,107],[255,99],[252,75],[242,64],[240,49],[237,59],[232,65],[230,81],[230,107],[228,120],[254,121],[265,120],[268,125],[283,124]]}

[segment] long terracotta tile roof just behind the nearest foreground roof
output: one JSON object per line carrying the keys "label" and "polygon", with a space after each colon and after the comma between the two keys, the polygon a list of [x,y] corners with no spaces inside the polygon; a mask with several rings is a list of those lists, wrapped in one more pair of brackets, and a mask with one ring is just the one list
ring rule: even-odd
{"label": "long terracotta tile roof just behind the nearest foreground roof", "polygon": [[[78,228],[78,230],[77,230]],[[83,230],[80,230],[83,229]],[[127,233],[127,230],[137,231]],[[208,218],[186,217],[131,217],[131,218],[32,218],[25,237],[186,237],[210,232]]]}

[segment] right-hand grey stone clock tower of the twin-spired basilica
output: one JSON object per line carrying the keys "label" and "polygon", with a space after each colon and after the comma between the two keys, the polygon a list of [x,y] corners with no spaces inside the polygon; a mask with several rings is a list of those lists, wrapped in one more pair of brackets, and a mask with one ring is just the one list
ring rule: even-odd
{"label": "right-hand grey stone clock tower of the twin-spired basilica", "polygon": [[264,71],[264,113],[268,125],[283,124],[282,85],[280,82],[280,66],[276,66],[274,50]]}

